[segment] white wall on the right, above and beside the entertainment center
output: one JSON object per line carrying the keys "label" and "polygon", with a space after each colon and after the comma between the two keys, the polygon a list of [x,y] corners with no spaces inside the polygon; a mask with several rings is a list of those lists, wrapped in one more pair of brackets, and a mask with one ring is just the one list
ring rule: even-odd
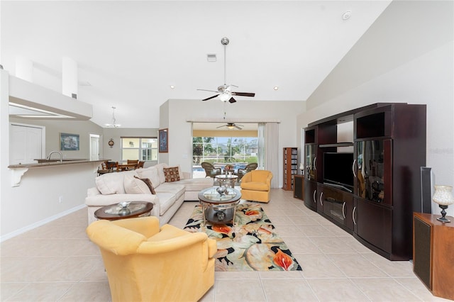
{"label": "white wall on the right, above and beside the entertainment center", "polygon": [[426,166],[435,184],[453,186],[453,25],[453,1],[393,1],[307,100],[299,125],[377,102],[426,104]]}

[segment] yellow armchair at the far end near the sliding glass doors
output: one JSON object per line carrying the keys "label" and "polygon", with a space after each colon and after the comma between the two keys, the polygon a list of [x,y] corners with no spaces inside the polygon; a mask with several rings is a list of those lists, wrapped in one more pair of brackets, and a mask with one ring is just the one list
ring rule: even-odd
{"label": "yellow armchair at the far end near the sliding glass doors", "polygon": [[272,172],[253,170],[241,179],[241,198],[249,201],[270,201]]}

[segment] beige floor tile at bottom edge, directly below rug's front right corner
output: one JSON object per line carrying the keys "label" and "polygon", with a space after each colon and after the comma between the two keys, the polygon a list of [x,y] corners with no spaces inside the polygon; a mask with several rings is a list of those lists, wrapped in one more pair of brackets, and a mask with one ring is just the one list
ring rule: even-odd
{"label": "beige floor tile at bottom edge, directly below rug's front right corner", "polygon": [[262,280],[266,301],[316,301],[316,296],[304,279]]}

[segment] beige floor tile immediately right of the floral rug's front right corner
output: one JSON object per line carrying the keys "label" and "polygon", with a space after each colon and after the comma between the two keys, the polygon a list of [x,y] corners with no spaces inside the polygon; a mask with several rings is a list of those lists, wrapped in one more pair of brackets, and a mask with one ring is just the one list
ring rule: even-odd
{"label": "beige floor tile immediately right of the floral rug's front right corner", "polygon": [[297,257],[305,278],[346,278],[326,255],[297,254],[294,256]]}

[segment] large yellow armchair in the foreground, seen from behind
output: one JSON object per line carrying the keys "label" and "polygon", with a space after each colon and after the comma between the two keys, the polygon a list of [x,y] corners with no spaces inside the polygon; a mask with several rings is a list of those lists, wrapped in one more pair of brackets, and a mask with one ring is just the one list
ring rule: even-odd
{"label": "large yellow armchair in the foreground, seen from behind", "polygon": [[104,260],[112,301],[198,301],[214,285],[216,240],[154,216],[87,228]]}

